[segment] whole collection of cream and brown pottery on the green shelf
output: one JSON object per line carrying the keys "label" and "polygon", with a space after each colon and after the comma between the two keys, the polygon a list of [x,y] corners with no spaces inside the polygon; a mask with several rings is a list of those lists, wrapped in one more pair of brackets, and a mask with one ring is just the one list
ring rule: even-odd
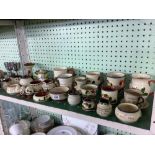
{"label": "whole collection of cream and brown pottery on the green shelf", "polygon": [[[147,103],[146,99],[151,93],[150,86],[155,83],[148,74],[132,74],[129,88],[126,88],[124,73],[109,72],[103,83],[100,72],[90,71],[85,76],[75,77],[75,70],[67,67],[54,68],[54,79],[48,77],[48,71],[37,70],[35,80],[32,72],[34,64],[26,63],[24,66],[27,70],[25,76],[1,79],[1,87],[8,94],[30,96],[35,102],[42,103],[47,100],[66,100],[70,106],[77,105],[86,112],[96,111],[104,118],[110,117],[116,107],[115,115],[123,123],[139,120],[142,116],[140,107]],[[3,76],[2,72],[0,76]],[[121,91],[123,102],[119,99]],[[16,127],[21,128],[20,125]]]}

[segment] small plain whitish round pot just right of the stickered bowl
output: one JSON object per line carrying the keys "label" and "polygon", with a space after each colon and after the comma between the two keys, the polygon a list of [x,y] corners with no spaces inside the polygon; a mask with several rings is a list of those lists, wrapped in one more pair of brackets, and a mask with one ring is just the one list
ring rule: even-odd
{"label": "small plain whitish round pot just right of the stickered bowl", "polygon": [[81,97],[78,93],[69,93],[68,94],[68,103],[72,106],[79,104]]}

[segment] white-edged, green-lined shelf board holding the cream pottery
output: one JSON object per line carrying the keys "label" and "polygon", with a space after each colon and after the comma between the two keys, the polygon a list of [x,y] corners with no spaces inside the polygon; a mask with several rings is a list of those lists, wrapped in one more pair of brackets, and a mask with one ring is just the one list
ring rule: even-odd
{"label": "white-edged, green-lined shelf board holding the cream pottery", "polygon": [[42,103],[36,103],[33,100],[24,100],[21,97],[10,96],[6,94],[3,90],[0,90],[0,94],[0,100],[5,100],[20,105],[38,108],[40,110],[45,110],[61,115],[83,119],[86,121],[94,122],[99,125],[124,130],[133,134],[151,134],[150,124],[153,107],[153,96],[150,96],[148,98],[148,102],[150,105],[147,109],[142,111],[142,117],[139,119],[139,121],[134,124],[127,125],[120,122],[115,117],[114,110],[108,118],[102,118],[98,116],[95,111],[83,111],[81,105],[70,106],[67,102],[57,102],[52,100]]}

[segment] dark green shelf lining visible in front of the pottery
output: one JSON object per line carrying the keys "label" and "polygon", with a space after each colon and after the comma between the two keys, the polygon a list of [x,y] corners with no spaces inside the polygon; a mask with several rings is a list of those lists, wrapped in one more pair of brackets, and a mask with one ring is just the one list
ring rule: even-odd
{"label": "dark green shelf lining visible in front of the pottery", "polygon": [[[104,119],[104,120],[108,120],[108,121],[112,121],[112,122],[122,123],[116,118],[116,116],[114,114],[115,106],[113,107],[113,112],[109,117],[102,118],[99,115],[97,115],[96,111],[86,112],[86,111],[82,110],[81,104],[79,104],[77,106],[70,106],[67,103],[67,101],[63,101],[63,102],[59,101],[58,102],[58,101],[53,101],[51,99],[46,102],[37,103],[37,102],[34,102],[32,99],[23,99],[22,97],[19,97],[19,96],[17,97],[17,96],[8,95],[3,90],[0,90],[0,94],[4,95],[4,96],[9,96],[12,98],[20,99],[21,102],[22,102],[22,100],[25,100],[25,101],[33,102],[36,104],[42,104],[42,105],[45,105],[48,107],[54,107],[54,108],[58,108],[58,109],[62,109],[62,110],[75,112],[78,114],[83,114],[86,116],[91,116],[91,117],[100,118],[100,119]],[[142,110],[142,117],[138,120],[138,122],[129,124],[130,126],[150,130],[152,107],[153,107],[153,97],[154,97],[153,95],[148,97],[147,101],[149,102],[149,107],[147,109]],[[27,106],[29,106],[29,105],[27,105]],[[124,123],[122,123],[122,124],[124,124]]]}

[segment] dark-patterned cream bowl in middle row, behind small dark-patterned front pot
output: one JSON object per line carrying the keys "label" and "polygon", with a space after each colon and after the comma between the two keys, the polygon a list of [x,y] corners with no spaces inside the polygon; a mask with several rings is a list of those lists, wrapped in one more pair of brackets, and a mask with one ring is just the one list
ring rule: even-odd
{"label": "dark-patterned cream bowl in middle row, behind small dark-patterned front pot", "polygon": [[86,84],[81,86],[81,92],[84,96],[96,96],[97,93],[97,85],[94,84]]}

